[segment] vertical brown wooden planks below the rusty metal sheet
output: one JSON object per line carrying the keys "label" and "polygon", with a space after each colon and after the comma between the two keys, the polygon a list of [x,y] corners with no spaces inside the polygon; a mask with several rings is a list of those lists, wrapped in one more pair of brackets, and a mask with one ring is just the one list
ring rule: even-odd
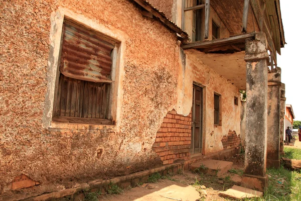
{"label": "vertical brown wooden planks below the rusty metal sheet", "polygon": [[96,83],[60,75],[55,117],[105,119],[110,83]]}

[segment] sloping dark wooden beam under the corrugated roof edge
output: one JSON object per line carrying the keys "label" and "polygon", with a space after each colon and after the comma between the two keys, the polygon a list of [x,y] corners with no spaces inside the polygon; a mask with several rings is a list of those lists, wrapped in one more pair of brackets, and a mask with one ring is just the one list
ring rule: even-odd
{"label": "sloping dark wooden beam under the corrugated roof edge", "polygon": [[144,10],[150,12],[153,14],[154,17],[158,18],[163,24],[165,24],[168,28],[173,30],[174,32],[178,33],[181,37],[184,39],[188,38],[188,35],[177,25],[169,21],[165,16],[163,16],[161,13],[159,13],[157,10],[155,10],[153,7],[151,7],[147,2],[143,0],[133,0],[136,4],[138,4],[140,7],[142,7]]}

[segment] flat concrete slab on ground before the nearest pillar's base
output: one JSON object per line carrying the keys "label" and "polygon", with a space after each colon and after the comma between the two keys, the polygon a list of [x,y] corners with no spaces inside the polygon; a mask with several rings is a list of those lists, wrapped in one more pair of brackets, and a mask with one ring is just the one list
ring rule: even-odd
{"label": "flat concrete slab on ground before the nearest pillar's base", "polygon": [[232,188],[226,191],[220,191],[218,195],[221,197],[237,200],[252,197],[262,197],[263,192],[252,190],[246,187],[241,187],[238,185],[233,185]]}

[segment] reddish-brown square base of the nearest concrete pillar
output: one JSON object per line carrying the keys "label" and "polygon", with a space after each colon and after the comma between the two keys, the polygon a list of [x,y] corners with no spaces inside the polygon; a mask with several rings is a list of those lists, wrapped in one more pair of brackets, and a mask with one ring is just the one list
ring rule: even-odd
{"label": "reddish-brown square base of the nearest concrete pillar", "polygon": [[265,176],[255,176],[250,174],[242,175],[241,186],[246,188],[251,188],[255,190],[259,190],[260,192],[264,192],[267,188],[268,177]]}

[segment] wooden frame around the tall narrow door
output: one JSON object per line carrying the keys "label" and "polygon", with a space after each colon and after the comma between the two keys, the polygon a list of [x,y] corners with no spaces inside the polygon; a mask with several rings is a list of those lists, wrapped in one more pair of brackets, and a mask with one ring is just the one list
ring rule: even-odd
{"label": "wooden frame around the tall narrow door", "polygon": [[[196,81],[193,81],[193,83],[192,83],[193,85],[196,85],[196,86],[199,86],[199,87],[201,87],[202,88],[202,100],[201,100],[201,104],[202,104],[202,107],[201,107],[201,113],[202,113],[202,115],[201,115],[201,137],[202,137],[202,139],[201,139],[201,145],[202,145],[202,150],[200,150],[200,153],[194,153],[194,154],[192,154],[193,156],[197,156],[197,155],[205,155],[206,154],[206,152],[205,152],[205,141],[206,141],[206,129],[205,129],[205,127],[206,127],[206,110],[205,110],[205,108],[206,108],[206,86],[205,85],[203,85],[203,84],[201,84],[201,83],[199,83],[199,82],[196,82]],[[193,91],[193,90],[192,90]],[[192,98],[193,98],[193,95],[191,96]],[[192,99],[191,99],[191,103],[192,103]],[[191,110],[193,110],[193,105],[192,105],[192,107],[191,107]],[[193,117],[191,117],[191,119],[193,119]],[[191,131],[191,138],[192,138],[193,136],[192,136],[192,131]],[[191,144],[191,146],[193,146],[193,144]],[[193,147],[191,148],[191,150],[193,150],[194,151],[194,149],[193,149]]]}

